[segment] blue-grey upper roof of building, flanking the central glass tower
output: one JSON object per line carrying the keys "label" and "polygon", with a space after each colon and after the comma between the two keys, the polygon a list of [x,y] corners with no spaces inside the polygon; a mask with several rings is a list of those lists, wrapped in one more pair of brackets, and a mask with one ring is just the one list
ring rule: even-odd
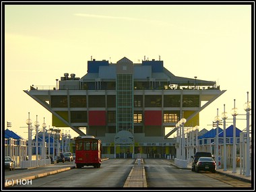
{"label": "blue-grey upper roof of building, flanking the central glass tower", "polygon": [[214,86],[216,82],[214,81],[205,81],[200,79],[193,79],[187,77],[178,77],[173,73],[168,71],[164,67],[163,61],[142,61],[142,63],[133,63],[126,57],[117,61],[116,64],[108,63],[108,61],[88,61],[88,73],[81,78],[81,81],[84,82],[94,82],[95,79],[115,79],[117,72],[117,65],[119,63],[129,63],[133,64],[133,78],[134,79],[143,79],[145,81],[148,78],[158,79],[158,81],[168,81],[170,84],[178,84],[179,86],[187,86],[191,84],[193,86]]}

